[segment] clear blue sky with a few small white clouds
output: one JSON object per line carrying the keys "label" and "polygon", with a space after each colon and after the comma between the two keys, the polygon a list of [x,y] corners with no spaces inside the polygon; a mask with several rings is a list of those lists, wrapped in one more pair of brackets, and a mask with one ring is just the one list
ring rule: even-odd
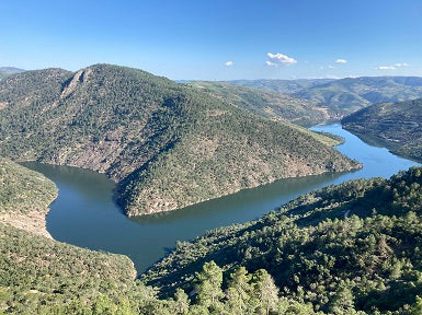
{"label": "clear blue sky with a few small white clouds", "polygon": [[173,80],[422,77],[421,0],[1,0],[0,67]]}

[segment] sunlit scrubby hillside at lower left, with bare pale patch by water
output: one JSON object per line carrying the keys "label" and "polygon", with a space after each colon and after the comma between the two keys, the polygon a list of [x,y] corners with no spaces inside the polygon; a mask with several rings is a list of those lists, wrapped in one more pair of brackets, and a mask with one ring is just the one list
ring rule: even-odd
{"label": "sunlit scrubby hillside at lower left, with bare pale patch by water", "polygon": [[91,306],[103,293],[119,299],[133,290],[135,269],[127,257],[50,238],[45,215],[57,196],[53,182],[0,158],[0,187],[1,314],[53,314],[66,307],[75,314],[72,307]]}

